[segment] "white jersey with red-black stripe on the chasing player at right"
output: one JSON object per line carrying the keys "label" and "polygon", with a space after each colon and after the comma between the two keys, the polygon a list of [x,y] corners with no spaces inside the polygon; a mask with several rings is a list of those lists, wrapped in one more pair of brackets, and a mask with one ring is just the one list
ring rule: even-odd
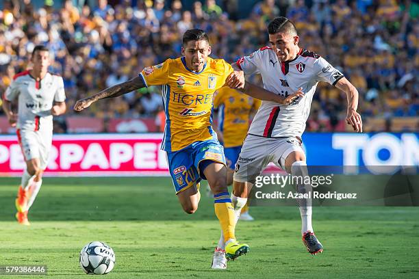
{"label": "white jersey with red-black stripe on the chasing player at right", "polygon": [[301,137],[309,116],[313,94],[319,81],[332,85],[344,75],[316,53],[301,49],[292,61],[279,62],[275,51],[263,47],[236,62],[245,75],[262,75],[264,88],[288,96],[303,88],[304,96],[291,105],[263,101],[257,110],[249,134],[262,137]]}

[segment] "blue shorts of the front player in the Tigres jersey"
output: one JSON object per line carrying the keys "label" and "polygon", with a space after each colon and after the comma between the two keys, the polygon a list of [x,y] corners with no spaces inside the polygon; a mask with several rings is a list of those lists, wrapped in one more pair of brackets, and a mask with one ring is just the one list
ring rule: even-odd
{"label": "blue shorts of the front player in the Tigres jersey", "polygon": [[203,170],[211,163],[226,165],[224,148],[214,139],[194,142],[181,150],[167,152],[167,159],[176,194],[206,179]]}

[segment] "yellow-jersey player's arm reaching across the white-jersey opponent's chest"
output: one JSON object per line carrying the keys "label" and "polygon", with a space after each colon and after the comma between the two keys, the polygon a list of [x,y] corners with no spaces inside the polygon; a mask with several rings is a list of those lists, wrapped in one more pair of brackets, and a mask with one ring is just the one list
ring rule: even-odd
{"label": "yellow-jersey player's arm reaching across the white-jersey opponent's chest", "polygon": [[259,88],[259,86],[249,83],[247,81],[246,83],[244,83],[244,88],[237,90],[243,92],[244,94],[252,96],[253,98],[257,98],[262,101],[277,102],[281,105],[290,105],[290,103],[292,103],[292,101],[294,101],[296,98],[304,96],[304,93],[301,91],[303,90],[303,88],[299,88],[299,90],[290,94],[290,96],[284,98],[283,96],[270,92],[264,88]]}

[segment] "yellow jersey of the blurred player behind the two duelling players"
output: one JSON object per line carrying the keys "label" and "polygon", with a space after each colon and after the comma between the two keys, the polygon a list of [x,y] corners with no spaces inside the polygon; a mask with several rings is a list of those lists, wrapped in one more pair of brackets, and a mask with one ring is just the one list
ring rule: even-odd
{"label": "yellow jersey of the blurred player behind the two duelling players", "polygon": [[256,111],[261,103],[228,87],[216,92],[214,108],[218,109],[218,129],[223,133],[225,147],[242,146],[249,130],[251,111]]}

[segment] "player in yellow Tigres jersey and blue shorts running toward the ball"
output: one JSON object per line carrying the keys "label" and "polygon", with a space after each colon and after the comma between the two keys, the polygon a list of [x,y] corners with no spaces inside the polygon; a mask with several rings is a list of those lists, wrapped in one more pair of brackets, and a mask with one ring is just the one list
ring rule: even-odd
{"label": "player in yellow Tigres jersey and blue shorts running toward the ball", "polygon": [[[212,130],[212,98],[231,79],[233,68],[223,59],[208,57],[207,34],[191,29],[183,34],[183,57],[167,59],[147,67],[138,77],[77,101],[76,111],[101,98],[110,98],[149,85],[162,85],[166,126],[162,149],[166,150],[170,176],[177,198],[186,213],[194,213],[201,198],[199,181],[207,179],[214,194],[215,213],[225,237],[225,257],[235,259],[249,252],[249,245],[236,241],[236,220],[227,190],[227,168],[223,146]],[[255,98],[290,103],[301,92],[283,98],[250,83],[231,83]]]}

